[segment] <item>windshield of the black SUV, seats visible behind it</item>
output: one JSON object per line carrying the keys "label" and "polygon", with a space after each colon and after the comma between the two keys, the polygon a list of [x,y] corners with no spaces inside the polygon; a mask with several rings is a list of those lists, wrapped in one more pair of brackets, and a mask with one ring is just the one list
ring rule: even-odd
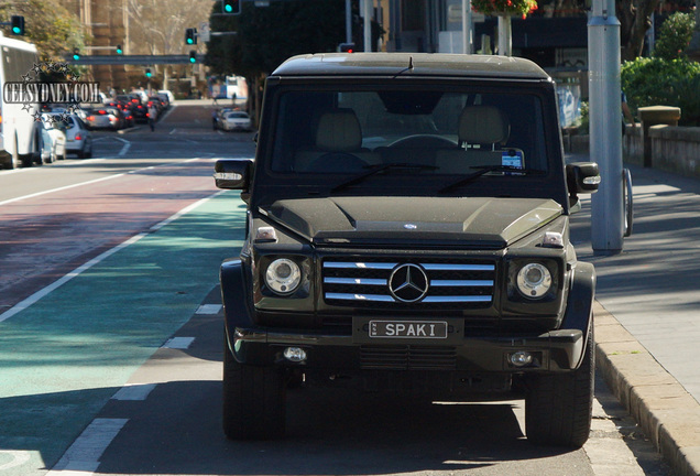
{"label": "windshield of the black SUV, seats visible behind it", "polygon": [[[455,90],[288,90],[276,102],[270,166],[284,174],[472,174],[506,165],[547,171],[542,104],[534,94]],[[494,167],[491,174],[508,174]],[[524,176],[524,174],[522,174]],[[449,182],[448,182],[449,183]]]}

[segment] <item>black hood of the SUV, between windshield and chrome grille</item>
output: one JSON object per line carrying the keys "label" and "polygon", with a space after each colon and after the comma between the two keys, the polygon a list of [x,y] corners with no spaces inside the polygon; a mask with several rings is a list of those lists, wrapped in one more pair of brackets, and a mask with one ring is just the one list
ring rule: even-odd
{"label": "black hood of the SUV, between windshield and chrome grille", "polygon": [[329,197],[277,201],[264,210],[316,245],[478,246],[500,249],[561,215],[543,198]]}

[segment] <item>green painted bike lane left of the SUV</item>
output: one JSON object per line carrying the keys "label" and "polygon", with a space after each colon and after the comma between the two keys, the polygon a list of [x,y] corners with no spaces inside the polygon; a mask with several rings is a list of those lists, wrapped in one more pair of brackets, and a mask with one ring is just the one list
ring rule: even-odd
{"label": "green painted bike lane left of the SUV", "polygon": [[238,255],[223,193],[0,322],[0,475],[41,475],[197,310]]}

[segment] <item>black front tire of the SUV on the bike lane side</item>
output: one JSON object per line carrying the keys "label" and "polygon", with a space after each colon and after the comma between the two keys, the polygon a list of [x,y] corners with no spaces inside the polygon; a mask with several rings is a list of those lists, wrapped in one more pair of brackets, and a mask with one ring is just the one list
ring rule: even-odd
{"label": "black front tire of the SUV on the bike lane side", "polygon": [[240,364],[223,348],[223,433],[230,440],[284,436],[285,380],[274,367]]}

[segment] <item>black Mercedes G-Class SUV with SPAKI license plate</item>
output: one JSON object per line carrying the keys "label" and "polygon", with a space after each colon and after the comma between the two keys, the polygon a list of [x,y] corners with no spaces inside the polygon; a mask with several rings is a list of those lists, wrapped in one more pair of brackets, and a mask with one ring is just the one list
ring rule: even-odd
{"label": "black Mercedes G-Class SUV with SPAKI license plate", "polygon": [[296,56],[266,80],[221,266],[223,429],[278,437],[291,382],[525,396],[539,444],[588,439],[595,274],[569,241],[594,163],[566,165],[551,78],[503,56]]}

